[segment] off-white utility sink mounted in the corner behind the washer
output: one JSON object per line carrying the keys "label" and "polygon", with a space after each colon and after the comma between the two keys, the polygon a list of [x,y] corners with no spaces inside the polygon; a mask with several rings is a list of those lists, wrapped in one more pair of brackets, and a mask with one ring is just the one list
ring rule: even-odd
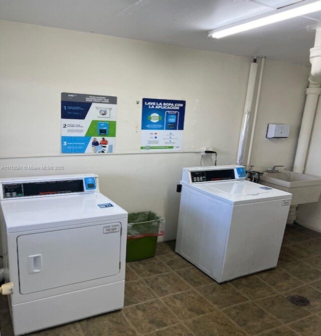
{"label": "off-white utility sink mounted in the corner behind the washer", "polygon": [[264,173],[261,184],[290,192],[291,205],[317,202],[321,193],[321,177],[282,170]]}

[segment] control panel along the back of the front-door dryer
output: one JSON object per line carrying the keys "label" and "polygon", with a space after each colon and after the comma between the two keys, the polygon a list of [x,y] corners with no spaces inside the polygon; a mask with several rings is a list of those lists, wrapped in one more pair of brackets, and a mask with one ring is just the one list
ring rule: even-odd
{"label": "control panel along the back of the front-door dryer", "polygon": [[1,199],[32,196],[53,196],[98,191],[97,175],[39,176],[33,178],[4,179],[0,181]]}

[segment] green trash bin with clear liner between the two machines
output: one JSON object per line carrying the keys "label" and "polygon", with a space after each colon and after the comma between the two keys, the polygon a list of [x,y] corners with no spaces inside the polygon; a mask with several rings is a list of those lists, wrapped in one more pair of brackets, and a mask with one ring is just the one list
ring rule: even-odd
{"label": "green trash bin with clear liner between the two machines", "polygon": [[157,237],[164,235],[163,225],[164,218],[153,211],[129,213],[126,261],[155,256]]}

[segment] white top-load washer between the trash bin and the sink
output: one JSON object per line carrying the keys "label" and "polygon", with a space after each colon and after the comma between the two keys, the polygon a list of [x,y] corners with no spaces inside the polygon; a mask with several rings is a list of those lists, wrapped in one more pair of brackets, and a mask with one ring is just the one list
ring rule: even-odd
{"label": "white top-load washer between the trash bin and the sink", "polygon": [[277,265],[292,194],[241,166],[184,168],[176,252],[217,282]]}

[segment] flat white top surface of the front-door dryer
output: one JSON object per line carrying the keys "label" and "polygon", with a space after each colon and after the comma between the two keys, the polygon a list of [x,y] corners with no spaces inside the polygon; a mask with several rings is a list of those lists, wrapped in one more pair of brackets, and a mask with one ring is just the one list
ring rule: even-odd
{"label": "flat white top surface of the front-door dryer", "polygon": [[99,192],[1,202],[8,232],[126,218],[127,212]]}

